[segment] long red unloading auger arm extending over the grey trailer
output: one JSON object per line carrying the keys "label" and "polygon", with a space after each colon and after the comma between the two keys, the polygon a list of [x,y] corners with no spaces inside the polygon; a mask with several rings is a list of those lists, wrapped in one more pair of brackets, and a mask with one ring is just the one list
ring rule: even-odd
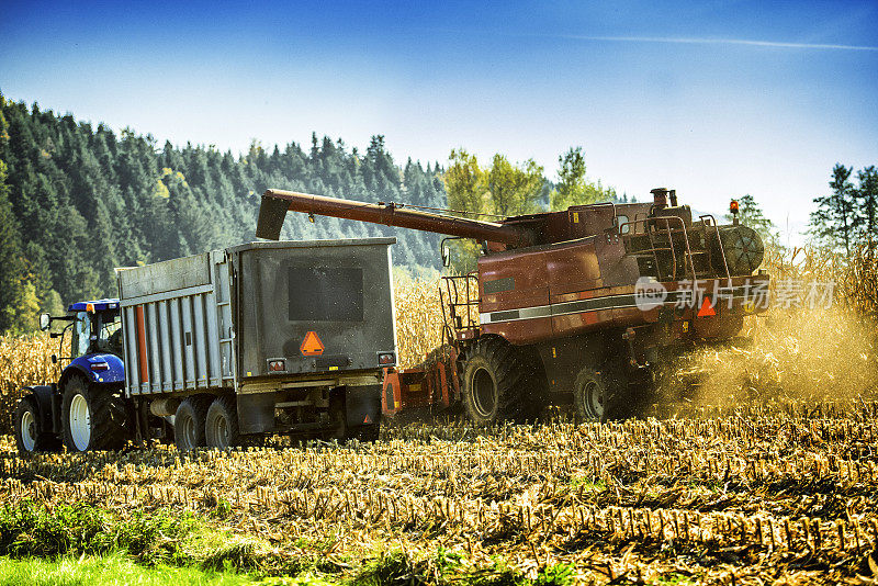
{"label": "long red unloading auger arm extending over the grey trailer", "polygon": [[502,243],[514,247],[532,243],[530,233],[518,226],[406,210],[392,202],[374,204],[277,189],[270,189],[262,194],[256,236],[279,239],[288,210]]}

